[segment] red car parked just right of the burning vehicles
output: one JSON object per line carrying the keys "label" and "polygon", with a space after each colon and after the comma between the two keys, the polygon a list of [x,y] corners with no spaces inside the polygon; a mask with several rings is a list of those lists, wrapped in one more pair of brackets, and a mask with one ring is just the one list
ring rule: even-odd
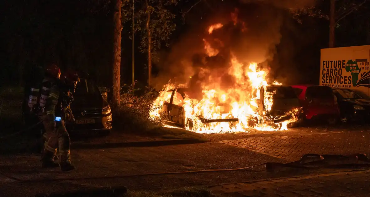
{"label": "red car parked just right of the burning vehicles", "polygon": [[295,90],[306,120],[326,120],[335,124],[340,111],[333,90],[327,86],[295,85]]}

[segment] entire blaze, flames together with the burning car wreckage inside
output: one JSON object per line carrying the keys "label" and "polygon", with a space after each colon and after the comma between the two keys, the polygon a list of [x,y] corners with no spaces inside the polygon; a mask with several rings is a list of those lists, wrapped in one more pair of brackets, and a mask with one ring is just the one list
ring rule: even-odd
{"label": "entire blaze, flames together with the burning car wreckage inside", "polygon": [[275,94],[285,99],[285,94],[294,94],[293,89],[284,89],[281,83],[268,78],[268,68],[245,62],[244,57],[232,51],[228,41],[232,34],[224,34],[248,31],[245,22],[237,17],[236,9],[229,23],[215,23],[206,29],[203,54],[193,58],[194,75],[185,84],[166,84],[154,102],[151,118],[160,119],[165,127],[199,133],[248,132],[250,128],[287,130],[289,123],[298,120],[297,103],[278,109],[279,113],[272,112]]}

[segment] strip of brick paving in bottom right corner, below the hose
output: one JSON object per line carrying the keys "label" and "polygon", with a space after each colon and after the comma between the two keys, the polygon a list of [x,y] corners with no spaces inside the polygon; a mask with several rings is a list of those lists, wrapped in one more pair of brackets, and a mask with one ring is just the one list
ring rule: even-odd
{"label": "strip of brick paving in bottom right corner, below the hose", "polygon": [[310,175],[250,183],[225,184],[210,189],[228,196],[369,196],[370,171]]}

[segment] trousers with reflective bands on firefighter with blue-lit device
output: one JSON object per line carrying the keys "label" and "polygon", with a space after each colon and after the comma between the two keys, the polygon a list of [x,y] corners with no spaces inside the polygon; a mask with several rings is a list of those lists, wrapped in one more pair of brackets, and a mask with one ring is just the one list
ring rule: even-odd
{"label": "trousers with reflective bands on firefighter with blue-lit device", "polygon": [[66,163],[71,163],[71,140],[67,129],[65,128],[64,120],[58,122],[57,124],[55,124],[54,121],[47,122],[46,124],[48,124],[49,128],[51,128],[50,124],[53,124],[53,127],[55,125],[55,128],[53,130],[45,129],[46,133],[48,133],[45,136],[48,139],[45,143],[42,160],[53,161],[58,149],[60,163],[62,165]]}

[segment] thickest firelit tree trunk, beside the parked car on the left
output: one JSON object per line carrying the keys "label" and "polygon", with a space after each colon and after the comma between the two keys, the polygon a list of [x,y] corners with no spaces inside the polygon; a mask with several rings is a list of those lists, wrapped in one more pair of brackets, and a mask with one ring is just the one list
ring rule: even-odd
{"label": "thickest firelit tree trunk, beside the parked car on the left", "polygon": [[121,16],[122,0],[115,0],[114,5],[114,48],[113,48],[113,92],[112,105],[120,105],[120,80],[121,80],[121,32],[122,32],[122,16]]}

